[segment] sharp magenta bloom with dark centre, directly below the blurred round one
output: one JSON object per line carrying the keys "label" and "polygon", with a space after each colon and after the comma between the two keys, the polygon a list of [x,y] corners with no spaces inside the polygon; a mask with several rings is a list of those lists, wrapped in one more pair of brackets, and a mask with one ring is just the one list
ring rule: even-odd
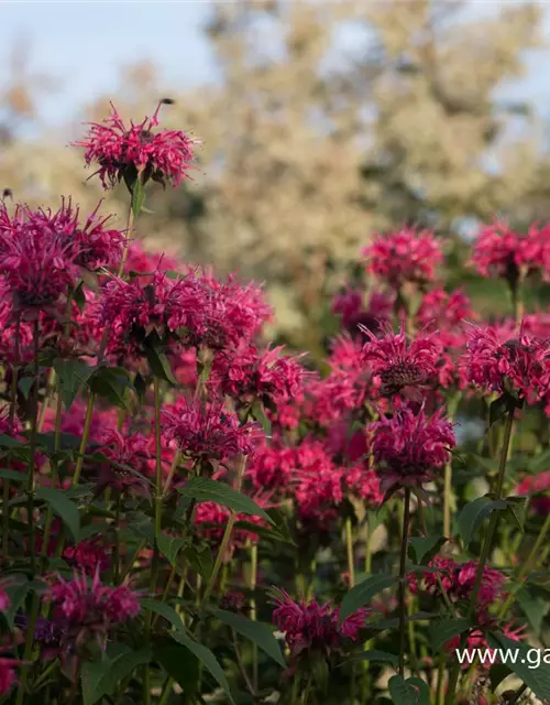
{"label": "sharp magenta bloom with dark centre, directly below the blurred round one", "polygon": [[365,333],[370,339],[363,347],[363,359],[383,395],[426,384],[438,377],[441,346],[435,334],[420,332],[409,341],[403,326],[398,334],[387,327],[382,338]]}

